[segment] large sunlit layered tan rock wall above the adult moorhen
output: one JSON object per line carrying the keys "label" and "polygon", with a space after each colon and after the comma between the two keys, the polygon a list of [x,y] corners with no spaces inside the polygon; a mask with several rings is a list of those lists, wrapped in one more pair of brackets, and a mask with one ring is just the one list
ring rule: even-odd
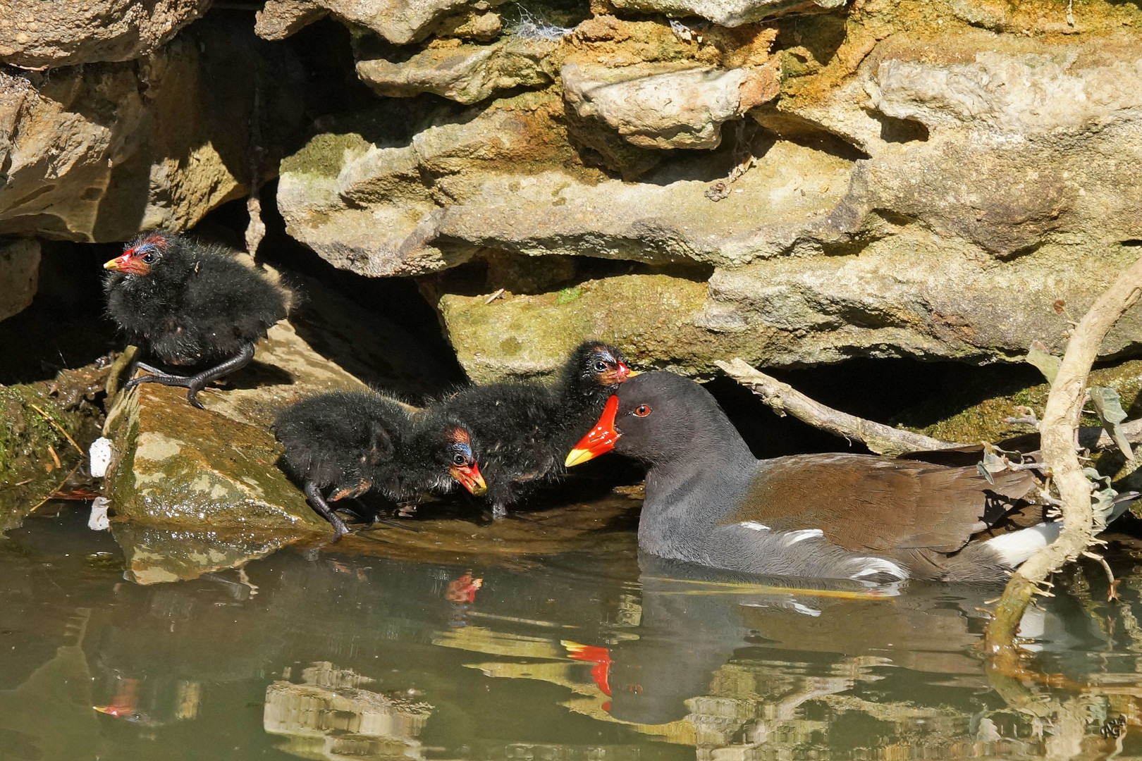
{"label": "large sunlit layered tan rock wall above the adult moorhen", "polygon": [[[1013,361],[1060,350],[1055,301],[1081,314],[1136,257],[1135,7],[1071,25],[1049,3],[611,5],[524,92],[431,82],[412,62],[443,60],[440,39],[362,60],[378,91],[476,105],[410,105],[403,131],[361,114],[283,164],[290,234],[339,267],[428,276],[473,378],[549,372],[595,334],[689,374],[733,355]],[[632,13],[650,9],[714,23]],[[505,257],[533,264],[490,276]],[[635,302],[657,331],[630,314],[652,298],[636,276],[674,278]],[[1133,351],[1140,319],[1103,354]]]}

